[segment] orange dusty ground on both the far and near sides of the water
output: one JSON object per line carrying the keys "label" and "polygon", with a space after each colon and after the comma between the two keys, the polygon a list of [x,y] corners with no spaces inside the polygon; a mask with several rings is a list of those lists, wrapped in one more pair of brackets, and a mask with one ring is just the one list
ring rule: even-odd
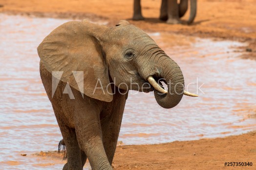
{"label": "orange dusty ground on both the far and near sides of the water", "polygon": [[[248,47],[240,49],[248,51],[242,57],[256,59],[256,0],[198,0],[197,17],[192,25],[168,25],[158,20],[160,0],[142,0],[142,6],[146,20],[132,21],[132,0],[0,0],[0,12],[10,15],[88,17],[107,20],[110,26],[120,19],[128,19],[151,32],[248,42]],[[183,19],[187,18],[188,14]],[[158,145],[119,146],[113,166],[117,170],[224,169],[224,162],[246,161],[253,162],[251,169],[255,169],[255,143],[256,133],[250,133]]]}

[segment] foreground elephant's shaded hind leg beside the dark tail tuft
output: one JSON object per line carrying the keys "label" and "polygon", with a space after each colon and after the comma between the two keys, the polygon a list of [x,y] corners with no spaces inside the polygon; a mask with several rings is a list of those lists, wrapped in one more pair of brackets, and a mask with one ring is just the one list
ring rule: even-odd
{"label": "foreground elephant's shaded hind leg beside the dark tail tuft", "polygon": [[63,170],[83,170],[86,155],[81,154],[82,152],[77,142],[75,129],[64,125],[62,119],[60,118],[62,113],[60,113],[61,111],[59,109],[56,109],[53,106],[53,110],[64,139],[64,144],[66,146],[67,163],[64,165]]}

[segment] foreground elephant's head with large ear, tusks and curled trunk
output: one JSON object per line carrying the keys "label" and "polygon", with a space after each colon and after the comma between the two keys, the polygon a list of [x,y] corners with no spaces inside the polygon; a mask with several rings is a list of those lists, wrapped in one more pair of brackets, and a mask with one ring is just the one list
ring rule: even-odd
{"label": "foreground elephant's head with large ear, tusks and curled trunk", "polygon": [[[177,105],[183,94],[193,96],[184,91],[179,66],[128,21],[121,20],[116,27],[85,20],[64,23],[44,38],[38,53],[49,72],[61,71],[61,81],[97,100],[112,101],[110,83],[127,90],[154,90],[164,108]],[[74,71],[83,74],[77,77]],[[168,85],[167,91],[159,80]]]}

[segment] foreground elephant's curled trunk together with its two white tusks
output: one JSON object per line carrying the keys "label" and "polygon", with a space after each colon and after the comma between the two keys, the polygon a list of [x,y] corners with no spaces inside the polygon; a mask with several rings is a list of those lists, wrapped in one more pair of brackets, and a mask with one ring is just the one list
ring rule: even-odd
{"label": "foreground elephant's curled trunk together with its two white tusks", "polygon": [[[161,107],[169,109],[181,101],[183,94],[197,97],[198,95],[196,94],[184,91],[184,77],[177,63],[159,47],[153,45],[150,46],[150,49],[148,51],[150,61],[146,61],[148,67],[139,67],[138,71],[140,76],[154,87],[156,102]],[[152,53],[154,55],[150,55]],[[138,59],[136,64],[142,66],[145,64],[145,60]],[[168,89],[164,89],[162,82],[167,85]]]}

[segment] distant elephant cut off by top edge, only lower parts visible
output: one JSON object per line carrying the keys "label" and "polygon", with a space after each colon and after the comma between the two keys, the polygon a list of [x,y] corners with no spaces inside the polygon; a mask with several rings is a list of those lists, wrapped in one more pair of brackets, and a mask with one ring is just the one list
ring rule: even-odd
{"label": "distant elephant cut off by top edge, only lower parts visible", "polygon": [[[191,0],[190,17],[187,21],[191,24],[196,16],[196,0]],[[183,17],[188,10],[188,0],[162,0],[160,8],[160,19],[169,24],[181,23],[180,17]],[[134,0],[133,3],[133,20],[143,20],[144,17],[141,13],[141,0]]]}

